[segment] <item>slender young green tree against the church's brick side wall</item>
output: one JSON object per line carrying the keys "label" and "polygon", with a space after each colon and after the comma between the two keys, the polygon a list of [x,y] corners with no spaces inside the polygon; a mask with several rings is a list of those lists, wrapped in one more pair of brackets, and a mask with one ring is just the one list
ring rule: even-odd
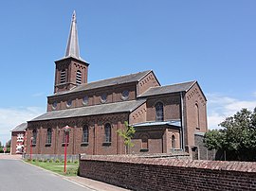
{"label": "slender young green tree against the church's brick side wall", "polygon": [[124,127],[124,130],[117,130],[117,132],[119,133],[119,136],[124,139],[125,153],[128,153],[128,149],[135,146],[132,143],[132,138],[134,137],[136,130],[133,126],[129,126],[127,121],[124,121]]}

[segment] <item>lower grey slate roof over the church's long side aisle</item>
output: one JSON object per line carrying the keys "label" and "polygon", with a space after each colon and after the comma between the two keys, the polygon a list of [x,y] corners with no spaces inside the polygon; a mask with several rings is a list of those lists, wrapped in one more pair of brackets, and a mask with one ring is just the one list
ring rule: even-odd
{"label": "lower grey slate roof over the church's long side aisle", "polygon": [[108,103],[95,106],[87,106],[82,108],[66,109],[60,111],[53,111],[44,113],[31,121],[43,121],[50,119],[60,119],[60,118],[69,118],[77,116],[89,116],[97,114],[107,114],[107,113],[126,113],[133,112],[141,104],[143,104],[146,99],[132,100],[132,101],[123,101],[117,103]]}

